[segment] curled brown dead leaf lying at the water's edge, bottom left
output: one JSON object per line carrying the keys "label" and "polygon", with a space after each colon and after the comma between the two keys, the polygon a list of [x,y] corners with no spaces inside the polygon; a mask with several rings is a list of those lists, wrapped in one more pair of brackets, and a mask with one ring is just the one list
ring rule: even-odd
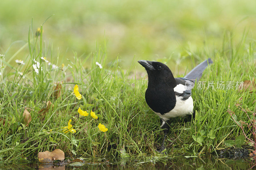
{"label": "curled brown dead leaf lying at the water's edge, bottom left", "polygon": [[54,151],[44,151],[38,152],[38,160],[41,163],[52,163],[54,160],[64,160],[65,153],[60,149],[55,149]]}

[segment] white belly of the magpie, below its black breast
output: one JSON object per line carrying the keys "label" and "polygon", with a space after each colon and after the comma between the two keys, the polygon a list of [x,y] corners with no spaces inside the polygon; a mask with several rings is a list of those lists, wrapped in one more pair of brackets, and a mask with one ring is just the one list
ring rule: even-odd
{"label": "white belly of the magpie, below its black breast", "polygon": [[192,114],[193,112],[193,99],[190,96],[187,100],[181,100],[181,97],[176,96],[176,105],[175,107],[168,113],[164,115],[160,113],[156,113],[160,118],[164,121],[169,120],[169,118],[175,118],[178,116],[184,117],[188,114]]}

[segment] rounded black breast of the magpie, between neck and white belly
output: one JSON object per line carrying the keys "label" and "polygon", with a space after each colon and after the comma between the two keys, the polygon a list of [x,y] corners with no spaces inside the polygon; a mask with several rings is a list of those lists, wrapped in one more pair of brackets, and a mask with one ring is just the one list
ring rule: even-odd
{"label": "rounded black breast of the magpie, between neck and white belly", "polygon": [[148,106],[162,115],[170,112],[176,104],[176,97],[173,89],[150,89],[146,90],[145,99]]}

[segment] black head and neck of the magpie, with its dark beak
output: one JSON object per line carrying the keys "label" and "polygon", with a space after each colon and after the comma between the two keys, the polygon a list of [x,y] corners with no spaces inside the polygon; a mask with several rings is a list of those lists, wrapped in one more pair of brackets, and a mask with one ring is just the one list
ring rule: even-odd
{"label": "black head and neck of the magpie, with its dark beak", "polygon": [[148,73],[148,86],[156,84],[166,84],[170,86],[176,86],[176,81],[172,75],[172,71],[168,66],[161,62],[139,60],[143,67],[145,67]]}

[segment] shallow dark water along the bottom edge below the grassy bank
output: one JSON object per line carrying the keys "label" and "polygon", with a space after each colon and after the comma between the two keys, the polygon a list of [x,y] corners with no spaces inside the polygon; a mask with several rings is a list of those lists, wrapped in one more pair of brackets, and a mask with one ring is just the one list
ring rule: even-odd
{"label": "shallow dark water along the bottom edge below the grassy bank", "polygon": [[[83,159],[84,162],[74,163],[5,163],[1,169],[249,169],[256,162],[253,158],[226,159],[213,156],[185,158],[145,157],[140,159]],[[253,166],[252,169],[255,169]]]}

